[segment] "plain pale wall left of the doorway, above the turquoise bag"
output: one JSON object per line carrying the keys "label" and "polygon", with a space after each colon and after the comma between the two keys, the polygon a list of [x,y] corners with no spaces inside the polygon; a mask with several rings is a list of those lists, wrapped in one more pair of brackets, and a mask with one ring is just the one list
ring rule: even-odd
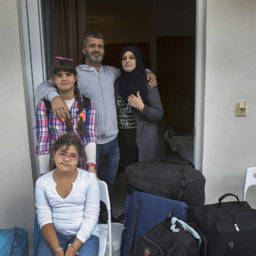
{"label": "plain pale wall left of the doorway, above the turquoise bag", "polygon": [[34,226],[34,189],[25,110],[23,41],[19,1],[2,0],[0,8],[0,229]]}

